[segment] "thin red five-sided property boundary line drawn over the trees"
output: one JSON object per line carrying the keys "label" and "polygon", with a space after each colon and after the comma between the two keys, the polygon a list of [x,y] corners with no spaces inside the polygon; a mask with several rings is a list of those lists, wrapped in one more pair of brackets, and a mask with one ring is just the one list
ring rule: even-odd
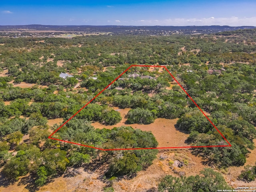
{"label": "thin red five-sided property boundary line drawn over the trees", "polygon": [[[129,148],[129,149],[102,149],[102,148],[97,148],[97,147],[92,147],[92,146],[87,146],[75,142],[70,142],[66,140],[61,140],[61,139],[56,139],[52,138],[52,136],[60,129],[62,128],[69,120],[71,120],[76,114],[78,114],[83,108],[85,108],[90,102],[92,102],[96,97],[98,97],[106,88],[108,88],[112,83],[114,83],[120,76],[122,76],[126,71],[128,71],[131,67],[163,67],[166,69],[166,71],[172,76],[172,78],[177,82],[177,84],[182,88],[182,90],[188,95],[188,97],[194,102],[194,104],[197,106],[197,108],[204,114],[204,116],[208,119],[208,121],[214,126],[214,128],[219,132],[219,134],[224,138],[224,140],[228,143],[228,145],[212,145],[212,146],[183,146],[183,147],[157,147],[157,148]],[[226,140],[226,138],[222,135],[222,133],[218,130],[218,128],[212,123],[212,121],[206,116],[206,114],[201,110],[201,108],[196,104],[196,102],[190,97],[190,95],[184,90],[184,88],[180,85],[180,83],[174,78],[174,76],[170,73],[170,71],[166,68],[166,66],[151,66],[151,65],[131,65],[128,67],[122,74],[120,74],[114,81],[112,81],[108,86],[106,86],[101,92],[99,92],[94,98],[92,98],[85,106],[83,106],[78,112],[76,112],[72,117],[70,117],[64,124],[62,124],[57,130],[55,130],[50,136],[48,136],[49,139],[57,140],[57,141],[62,141],[62,142],[67,142],[71,144],[76,144],[80,146],[85,146],[85,147],[90,147],[98,150],[103,150],[103,151],[111,151],[111,150],[139,150],[139,149],[174,149],[174,148],[202,148],[202,147],[231,147],[231,144]]]}

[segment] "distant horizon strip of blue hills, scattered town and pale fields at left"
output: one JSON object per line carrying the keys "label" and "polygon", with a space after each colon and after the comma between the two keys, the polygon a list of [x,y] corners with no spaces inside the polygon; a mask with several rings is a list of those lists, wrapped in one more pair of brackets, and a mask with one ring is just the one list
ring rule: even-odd
{"label": "distant horizon strip of blue hills, scattered town and pale fields at left", "polygon": [[[254,26],[55,26],[55,25],[15,25],[0,26],[0,36],[18,37],[59,37],[72,38],[86,35],[151,35],[210,34]],[[69,33],[67,33],[69,32]]]}

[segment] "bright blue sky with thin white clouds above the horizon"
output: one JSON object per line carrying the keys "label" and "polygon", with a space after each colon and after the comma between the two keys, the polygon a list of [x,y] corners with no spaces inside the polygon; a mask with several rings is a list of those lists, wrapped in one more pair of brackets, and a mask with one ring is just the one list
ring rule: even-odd
{"label": "bright blue sky with thin white clouds above the horizon", "polygon": [[256,26],[256,0],[10,0],[0,25]]}

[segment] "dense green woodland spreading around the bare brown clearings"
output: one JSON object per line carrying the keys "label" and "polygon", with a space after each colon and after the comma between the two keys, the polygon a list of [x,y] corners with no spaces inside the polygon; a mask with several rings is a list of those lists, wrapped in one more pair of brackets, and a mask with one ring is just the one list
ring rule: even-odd
{"label": "dense green woodland spreading around the bare brown clearings", "polygon": [[[178,118],[176,128],[189,134],[190,146],[227,145],[166,70],[132,67],[92,100],[133,64],[166,66],[232,145],[194,148],[192,154],[216,169],[243,166],[256,138],[255,34],[250,29],[199,35],[0,38],[1,173],[8,181],[30,174],[36,189],[70,167],[97,161],[108,167],[106,180],[132,178],[152,164],[158,150],[97,148],[156,148],[158,141],[150,129],[142,131],[132,124],[150,128],[157,118]],[[61,73],[71,76],[62,78]],[[150,78],[131,78],[132,74]],[[33,86],[21,88],[22,83]],[[171,84],[172,89],[166,89]],[[89,101],[53,137],[92,148],[48,139]],[[127,126],[92,126],[119,123],[122,116],[113,107],[129,108]],[[47,124],[56,118],[63,122]],[[255,166],[247,166],[238,179],[255,177]],[[200,191],[205,182],[218,185],[201,191],[229,189],[218,172],[206,169],[187,178],[166,176],[158,190],[180,191],[182,186]]]}

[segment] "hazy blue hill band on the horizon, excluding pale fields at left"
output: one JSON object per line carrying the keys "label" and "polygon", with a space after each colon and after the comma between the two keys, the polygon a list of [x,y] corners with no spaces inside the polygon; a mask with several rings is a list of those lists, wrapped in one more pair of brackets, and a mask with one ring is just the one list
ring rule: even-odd
{"label": "hazy blue hill band on the horizon, excluding pale fields at left", "polygon": [[141,34],[141,35],[168,35],[182,34],[209,34],[239,29],[252,29],[254,26],[58,26],[58,25],[6,25],[0,26],[0,31],[6,30],[49,30],[70,32],[111,32],[113,34]]}

